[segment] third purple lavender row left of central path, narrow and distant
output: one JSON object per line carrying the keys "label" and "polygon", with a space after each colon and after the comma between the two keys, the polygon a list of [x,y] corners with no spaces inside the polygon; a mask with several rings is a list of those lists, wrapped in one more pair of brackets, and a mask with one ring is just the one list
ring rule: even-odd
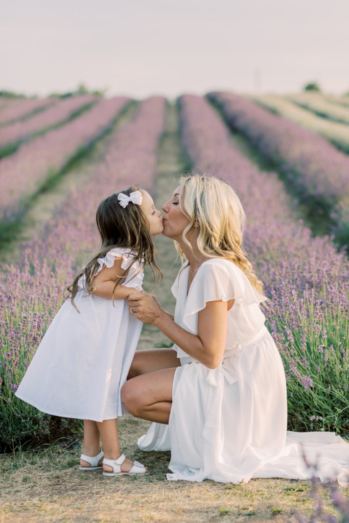
{"label": "third purple lavender row left of central path, narrow and distant", "polygon": [[0,128],[0,149],[10,143],[25,140],[31,134],[57,127],[59,123],[69,119],[74,112],[97,99],[96,96],[85,95],[59,100],[46,111],[39,112],[24,122],[16,122]]}

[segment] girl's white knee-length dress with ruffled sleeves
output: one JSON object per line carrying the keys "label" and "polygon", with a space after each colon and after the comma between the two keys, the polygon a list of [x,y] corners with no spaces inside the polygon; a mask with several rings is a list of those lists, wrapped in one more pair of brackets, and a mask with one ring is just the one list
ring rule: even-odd
{"label": "girl's white knee-length dress with ruffled sleeves", "polygon": [[[132,251],[119,247],[99,258],[99,270],[132,264]],[[142,290],[139,261],[122,285]],[[82,287],[83,280],[79,281]],[[102,422],[122,415],[120,388],[136,351],[142,322],[129,313],[127,300],[88,295],[80,290],[54,317],[22,379],[16,396],[42,412]]]}

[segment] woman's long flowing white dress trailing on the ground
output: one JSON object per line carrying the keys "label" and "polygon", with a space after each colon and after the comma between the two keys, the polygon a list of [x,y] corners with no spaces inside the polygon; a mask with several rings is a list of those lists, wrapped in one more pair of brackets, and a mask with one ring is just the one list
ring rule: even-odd
{"label": "woman's long flowing white dress trailing on the ground", "polygon": [[141,436],[141,450],[170,450],[168,480],[246,482],[252,477],[307,479],[302,447],[316,475],[349,474],[349,445],[334,433],[287,432],[286,380],[282,359],[264,326],[263,297],[237,266],[209,259],[188,288],[185,266],[174,282],[175,322],[197,334],[198,312],[208,301],[234,299],[228,311],[223,359],[208,369],[181,348],[173,382],[168,425],[153,423]]}

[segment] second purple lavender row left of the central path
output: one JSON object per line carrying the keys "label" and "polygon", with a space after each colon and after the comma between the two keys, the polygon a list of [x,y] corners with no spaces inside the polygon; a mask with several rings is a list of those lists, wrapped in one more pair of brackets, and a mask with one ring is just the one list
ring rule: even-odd
{"label": "second purple lavender row left of the central path", "polygon": [[0,161],[0,221],[16,221],[30,198],[78,152],[85,149],[114,122],[130,101],[116,97],[99,101],[81,116],[23,144]]}

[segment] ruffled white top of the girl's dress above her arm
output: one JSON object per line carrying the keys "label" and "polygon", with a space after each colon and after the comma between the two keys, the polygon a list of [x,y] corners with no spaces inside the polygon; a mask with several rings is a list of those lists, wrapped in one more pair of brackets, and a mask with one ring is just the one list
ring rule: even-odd
{"label": "ruffled white top of the girl's dress above her arm", "polygon": [[110,249],[110,251],[107,252],[107,254],[104,256],[104,258],[98,258],[97,261],[99,263],[99,268],[96,274],[98,274],[98,272],[104,266],[108,268],[112,267],[114,265],[115,258],[122,258],[121,268],[123,270],[129,268],[125,281],[123,281],[121,285],[125,287],[133,287],[134,289],[141,291],[144,276],[142,264],[138,260],[133,261],[134,254],[128,248],[118,247],[115,249]]}

